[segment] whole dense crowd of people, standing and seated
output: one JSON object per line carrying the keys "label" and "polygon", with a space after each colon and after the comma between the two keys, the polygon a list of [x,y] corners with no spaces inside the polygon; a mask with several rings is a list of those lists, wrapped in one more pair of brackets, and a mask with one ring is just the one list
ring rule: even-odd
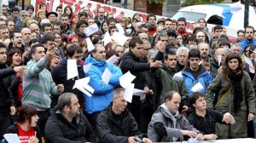
{"label": "whole dense crowd of people, standing and seated", "polygon": [[[172,142],[254,137],[256,112],[255,44],[253,26],[237,31],[230,41],[224,26],[207,29],[207,21],[142,21],[140,14],[116,19],[100,7],[58,6],[45,3],[26,9],[3,5],[0,14],[0,140],[18,134],[21,142]],[[34,14],[35,13],[35,14]],[[99,30],[86,36],[84,29]],[[127,40],[104,43],[119,32]],[[154,27],[154,28],[152,28]],[[152,31],[154,29],[155,31]],[[152,32],[154,32],[152,34]],[[150,34],[149,34],[150,33]],[[85,38],[89,37],[93,45]],[[92,47],[89,47],[92,46]],[[90,50],[89,50],[90,49]],[[113,64],[106,60],[119,57]],[[78,76],[68,78],[75,60]],[[84,65],[91,64],[88,72]],[[108,83],[102,80],[108,69]],[[119,77],[131,72],[133,95]],[[74,89],[90,77],[94,92]],[[195,88],[201,85],[201,88]],[[255,134],[255,133],[254,133]],[[1,141],[0,141],[1,142]]]}

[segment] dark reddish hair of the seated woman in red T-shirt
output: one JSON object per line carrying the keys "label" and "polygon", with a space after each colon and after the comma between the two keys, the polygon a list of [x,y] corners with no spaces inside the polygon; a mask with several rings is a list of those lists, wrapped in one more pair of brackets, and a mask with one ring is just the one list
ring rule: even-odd
{"label": "dark reddish hair of the seated woman in red T-shirt", "polygon": [[18,110],[18,123],[25,123],[28,120],[31,125],[32,117],[38,115],[38,111],[34,106],[22,105]]}

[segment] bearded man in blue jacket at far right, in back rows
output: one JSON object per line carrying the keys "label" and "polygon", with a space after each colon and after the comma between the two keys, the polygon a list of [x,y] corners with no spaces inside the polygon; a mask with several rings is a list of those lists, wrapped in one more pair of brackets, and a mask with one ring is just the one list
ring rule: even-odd
{"label": "bearded man in blue jacket at far right, in back rows", "polygon": [[256,41],[253,40],[253,35],[254,35],[254,28],[253,26],[247,26],[244,29],[245,31],[245,38],[242,40],[239,44],[241,45],[241,52],[243,53],[245,47],[248,44],[256,44]]}

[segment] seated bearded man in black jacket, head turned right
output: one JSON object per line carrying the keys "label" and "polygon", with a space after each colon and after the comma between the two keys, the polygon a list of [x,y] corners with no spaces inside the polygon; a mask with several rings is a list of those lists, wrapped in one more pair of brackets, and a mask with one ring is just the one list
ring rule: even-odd
{"label": "seated bearded man in black jacket, head turned right", "polygon": [[96,142],[90,123],[80,111],[79,100],[72,93],[61,94],[58,105],[51,110],[44,131],[49,143]]}

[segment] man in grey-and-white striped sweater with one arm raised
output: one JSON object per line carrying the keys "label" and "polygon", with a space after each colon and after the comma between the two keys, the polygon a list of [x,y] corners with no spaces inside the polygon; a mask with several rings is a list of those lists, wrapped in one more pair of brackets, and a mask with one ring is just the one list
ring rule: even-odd
{"label": "man in grey-and-white striped sweater with one arm raised", "polygon": [[44,46],[35,44],[31,49],[32,60],[27,63],[27,74],[23,79],[22,104],[34,106],[38,111],[38,127],[44,136],[44,125],[49,117],[50,95],[59,95],[64,91],[63,84],[54,83],[50,72],[45,68],[47,62],[55,58],[52,49],[44,54]]}

